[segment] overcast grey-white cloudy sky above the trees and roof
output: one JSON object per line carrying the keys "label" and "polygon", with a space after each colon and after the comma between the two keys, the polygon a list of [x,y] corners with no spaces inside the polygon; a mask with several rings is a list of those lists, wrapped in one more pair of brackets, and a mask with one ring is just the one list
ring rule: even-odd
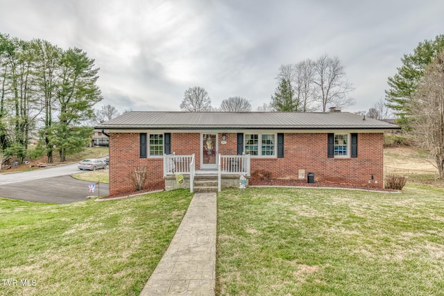
{"label": "overcast grey-white cloudy sky above the trees and roof", "polygon": [[212,105],[270,102],[281,64],[337,56],[368,110],[418,42],[444,33],[444,1],[0,0],[0,33],[79,47],[96,60],[104,100],[178,111],[187,88]]}

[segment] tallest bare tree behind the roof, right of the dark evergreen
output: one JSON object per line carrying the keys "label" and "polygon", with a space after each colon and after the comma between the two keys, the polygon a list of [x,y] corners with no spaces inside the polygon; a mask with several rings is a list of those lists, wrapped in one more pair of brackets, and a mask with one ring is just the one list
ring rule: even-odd
{"label": "tallest bare tree behind the roof, right of the dark evergreen", "polygon": [[326,54],[321,56],[316,60],[314,69],[314,84],[319,91],[317,100],[323,112],[327,111],[327,107],[343,108],[355,105],[355,100],[348,96],[354,88],[345,80],[344,68],[337,57],[330,58]]}

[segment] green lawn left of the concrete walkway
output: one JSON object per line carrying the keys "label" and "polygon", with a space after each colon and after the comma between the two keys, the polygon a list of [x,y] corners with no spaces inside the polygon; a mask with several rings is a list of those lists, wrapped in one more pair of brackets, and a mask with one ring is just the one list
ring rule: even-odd
{"label": "green lawn left of the concrete walkway", "polygon": [[0,199],[0,279],[31,285],[0,282],[0,295],[139,295],[190,200],[186,190],[62,205]]}

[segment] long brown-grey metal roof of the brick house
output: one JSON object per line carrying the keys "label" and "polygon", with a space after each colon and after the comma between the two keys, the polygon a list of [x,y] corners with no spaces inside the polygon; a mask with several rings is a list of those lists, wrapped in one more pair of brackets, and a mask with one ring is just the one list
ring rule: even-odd
{"label": "long brown-grey metal roof of the brick house", "polygon": [[97,125],[106,129],[398,129],[347,112],[127,112]]}

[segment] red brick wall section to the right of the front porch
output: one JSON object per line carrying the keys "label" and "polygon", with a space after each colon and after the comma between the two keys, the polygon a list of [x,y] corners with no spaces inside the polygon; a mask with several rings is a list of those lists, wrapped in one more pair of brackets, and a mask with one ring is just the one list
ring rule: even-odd
{"label": "red brick wall section to the right of the front porch", "polygon": [[[257,173],[271,178],[298,179],[298,170],[314,173],[316,181],[383,186],[383,134],[358,134],[357,158],[328,158],[327,134],[284,134],[284,158],[251,159],[250,184],[259,183]],[[373,180],[372,180],[373,175]],[[377,182],[377,183],[376,183]]]}

